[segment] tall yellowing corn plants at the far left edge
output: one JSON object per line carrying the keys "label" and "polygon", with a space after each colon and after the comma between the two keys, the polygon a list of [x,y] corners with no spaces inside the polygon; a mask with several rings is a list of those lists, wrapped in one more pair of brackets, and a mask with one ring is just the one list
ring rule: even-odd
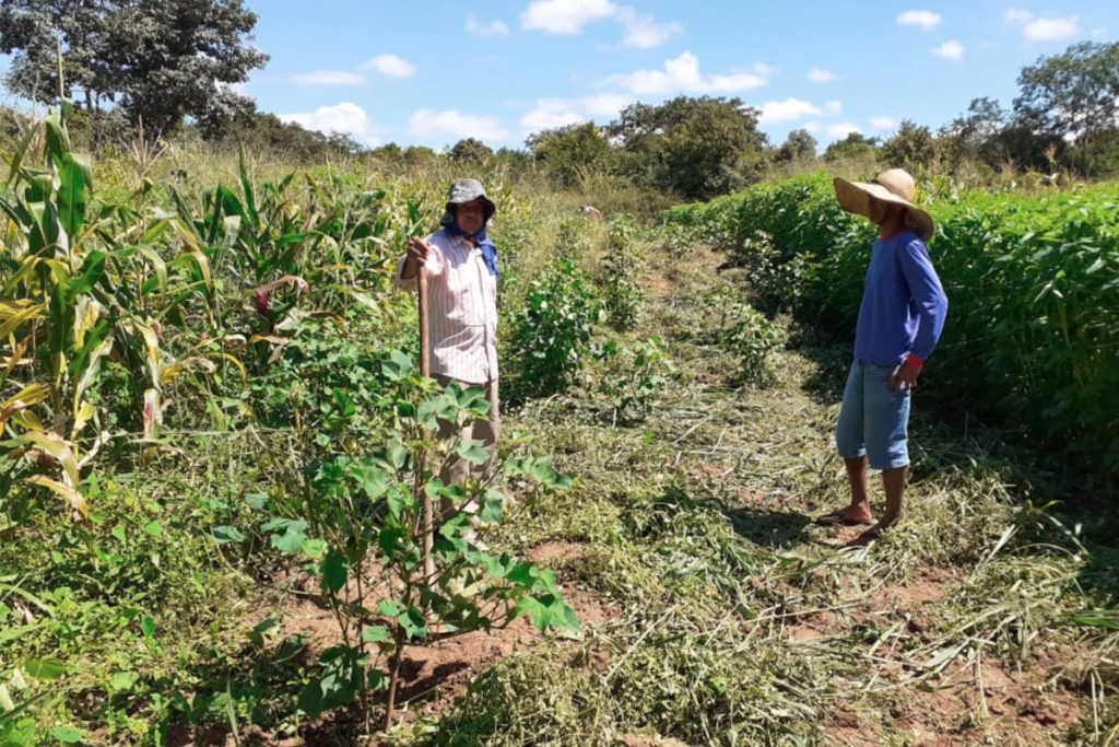
{"label": "tall yellowing corn plants at the far left edge", "polygon": [[70,148],[68,112],[64,104],[23,138],[11,158],[12,194],[0,197],[0,429],[8,437],[0,480],[10,487],[26,477],[84,515],[82,470],[114,437],[94,396],[103,362],[125,366],[137,389],[125,400],[150,440],[164,389],[188,371],[211,372],[213,358],[226,354],[177,357],[167,348],[164,321],[213,288],[207,258],[190,245],[180,251],[166,217],[148,220],[126,205],[91,212],[92,165]]}

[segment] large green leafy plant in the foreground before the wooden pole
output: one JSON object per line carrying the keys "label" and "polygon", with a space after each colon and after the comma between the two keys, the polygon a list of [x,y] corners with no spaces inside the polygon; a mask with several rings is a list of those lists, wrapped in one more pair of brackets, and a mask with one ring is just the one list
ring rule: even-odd
{"label": "large green leafy plant in the foreground before the wooden pole", "polygon": [[[387,690],[387,728],[408,645],[504,627],[520,616],[540,631],[576,628],[577,622],[552,571],[491,555],[468,539],[472,517],[481,523],[502,519],[507,498],[493,485],[498,471],[546,489],[570,480],[546,460],[520,457],[505,460],[504,469],[486,480],[444,485],[436,476],[443,458],[481,464],[488,455],[478,441],[439,441],[439,422],[486,417],[485,393],[441,389],[398,351],[383,361],[382,374],[375,402],[385,428],[382,446],[363,454],[348,449],[346,439],[331,439],[335,447],[301,492],[271,497],[272,517],[261,529],[275,550],[319,579],[341,633],[341,642],[322,652],[318,673],[299,697],[300,709],[313,717],[357,699],[368,722],[370,693]],[[344,405],[336,417],[345,421],[357,411]],[[345,423],[335,428],[337,435]],[[425,459],[425,452],[441,458]],[[432,543],[431,575],[424,558],[424,496],[450,506]]]}

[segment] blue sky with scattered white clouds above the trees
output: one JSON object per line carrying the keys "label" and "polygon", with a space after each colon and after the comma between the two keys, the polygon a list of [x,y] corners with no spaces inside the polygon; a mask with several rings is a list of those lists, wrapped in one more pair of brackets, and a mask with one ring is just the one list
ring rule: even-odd
{"label": "blue sky with scattered white clouds above the trees", "polygon": [[1018,71],[1119,38],[1119,2],[961,0],[246,0],[271,60],[261,109],[367,144],[521,147],[536,130],[633,101],[739,96],[774,142],[821,146],[903,119],[939,127]]}

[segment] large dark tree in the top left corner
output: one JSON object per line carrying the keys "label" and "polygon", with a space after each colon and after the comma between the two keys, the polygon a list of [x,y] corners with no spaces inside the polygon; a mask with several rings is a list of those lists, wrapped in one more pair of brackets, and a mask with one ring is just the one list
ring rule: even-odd
{"label": "large dark tree in the top left corner", "polygon": [[267,55],[248,44],[256,15],[243,0],[0,0],[8,85],[54,101],[82,91],[87,110],[119,103],[132,121],[167,130],[185,116],[204,131],[252,111],[233,86]]}

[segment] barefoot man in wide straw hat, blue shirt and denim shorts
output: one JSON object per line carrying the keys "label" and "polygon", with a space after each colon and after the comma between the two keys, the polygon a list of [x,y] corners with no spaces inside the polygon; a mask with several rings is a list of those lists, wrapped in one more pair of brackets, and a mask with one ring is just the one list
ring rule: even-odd
{"label": "barefoot man in wide straw hat, blue shirt and denim shorts", "polygon": [[844,389],[836,446],[850,480],[850,505],[817,519],[872,524],[866,469],[882,470],[886,511],[853,544],[867,544],[901,517],[909,477],[910,396],[940,338],[948,298],[927,242],[932,216],[913,205],[913,177],[890,169],[872,181],[835,180],[839,205],[878,226],[855,330],[855,361]]}

